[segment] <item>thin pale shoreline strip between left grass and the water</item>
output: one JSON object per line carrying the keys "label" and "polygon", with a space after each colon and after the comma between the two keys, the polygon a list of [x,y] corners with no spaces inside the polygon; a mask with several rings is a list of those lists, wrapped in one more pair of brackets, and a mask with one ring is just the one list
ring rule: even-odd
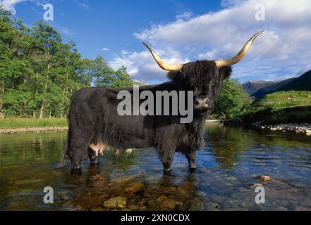
{"label": "thin pale shoreline strip between left grass and the water", "polygon": [[66,130],[68,130],[68,127],[16,128],[16,129],[0,129],[0,134],[41,133],[47,131],[66,131]]}

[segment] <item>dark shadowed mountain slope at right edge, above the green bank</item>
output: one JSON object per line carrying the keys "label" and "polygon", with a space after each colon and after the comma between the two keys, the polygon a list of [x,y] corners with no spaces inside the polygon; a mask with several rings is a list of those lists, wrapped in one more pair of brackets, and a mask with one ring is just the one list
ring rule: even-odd
{"label": "dark shadowed mountain slope at right edge, above the green bank", "polygon": [[278,91],[311,91],[311,70],[281,86]]}

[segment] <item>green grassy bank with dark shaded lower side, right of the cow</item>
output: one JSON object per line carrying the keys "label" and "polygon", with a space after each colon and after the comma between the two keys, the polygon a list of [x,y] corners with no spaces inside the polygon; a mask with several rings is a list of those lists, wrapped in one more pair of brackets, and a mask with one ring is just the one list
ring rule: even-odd
{"label": "green grassy bank with dark shaded lower side, right of the cow", "polygon": [[248,106],[240,117],[247,124],[311,122],[311,91],[280,91],[269,94]]}

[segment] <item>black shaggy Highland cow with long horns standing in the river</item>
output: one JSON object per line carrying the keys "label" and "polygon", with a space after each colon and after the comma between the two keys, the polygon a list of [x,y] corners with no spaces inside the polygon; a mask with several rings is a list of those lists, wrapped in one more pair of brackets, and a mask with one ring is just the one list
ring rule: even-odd
{"label": "black shaggy Highland cow with long horns standing in the river", "polygon": [[[183,65],[169,65],[147,46],[158,65],[169,71],[170,82],[145,86],[140,91],[193,91],[193,122],[182,124],[179,116],[135,115],[120,116],[117,106],[119,91],[130,89],[86,88],[73,94],[69,115],[68,141],[58,167],[66,160],[72,169],[80,169],[88,155],[97,164],[98,153],[106,149],[157,149],[164,172],[171,169],[176,152],[188,159],[190,171],[195,171],[195,153],[203,145],[203,131],[207,116],[212,113],[222,82],[230,77],[230,65],[238,63],[248,51],[257,32],[238,53],[228,60],[201,60]],[[133,104],[133,103],[132,103]]]}

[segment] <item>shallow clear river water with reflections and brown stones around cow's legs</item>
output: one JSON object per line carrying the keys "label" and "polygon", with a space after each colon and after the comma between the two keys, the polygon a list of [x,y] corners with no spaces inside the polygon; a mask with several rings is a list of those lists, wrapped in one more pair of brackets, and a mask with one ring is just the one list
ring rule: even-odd
{"label": "shallow clear river water with reflections and brown stones around cow's legs", "polygon": [[[197,173],[177,154],[169,176],[153,149],[108,153],[99,167],[85,160],[82,175],[52,169],[65,140],[65,132],[0,136],[0,210],[311,210],[307,136],[209,124]],[[264,205],[255,203],[258,184]],[[43,203],[45,186],[54,188],[53,205]]]}

